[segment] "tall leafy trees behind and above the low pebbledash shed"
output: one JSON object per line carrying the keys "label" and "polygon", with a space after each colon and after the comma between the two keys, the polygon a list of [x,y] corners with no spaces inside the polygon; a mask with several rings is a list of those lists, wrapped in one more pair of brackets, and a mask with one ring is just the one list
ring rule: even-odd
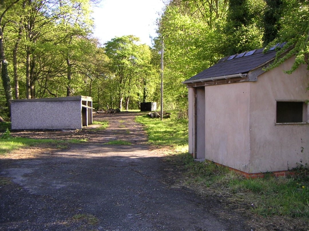
{"label": "tall leafy trees behind and above the low pebbledash shed", "polygon": [[[97,95],[106,55],[91,38],[90,0],[1,1],[1,48],[15,98]],[[5,30],[2,30],[5,28]],[[102,61],[99,63],[99,61]],[[4,86],[5,81],[0,79]],[[0,102],[4,102],[4,93]],[[0,105],[3,112],[4,105]]]}

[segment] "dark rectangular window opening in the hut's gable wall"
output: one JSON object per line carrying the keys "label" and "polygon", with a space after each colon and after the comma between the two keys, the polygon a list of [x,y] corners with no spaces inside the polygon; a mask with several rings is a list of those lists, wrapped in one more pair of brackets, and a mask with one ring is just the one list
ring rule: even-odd
{"label": "dark rectangular window opening in the hut's gable wall", "polygon": [[302,123],[303,102],[277,101],[277,123]]}

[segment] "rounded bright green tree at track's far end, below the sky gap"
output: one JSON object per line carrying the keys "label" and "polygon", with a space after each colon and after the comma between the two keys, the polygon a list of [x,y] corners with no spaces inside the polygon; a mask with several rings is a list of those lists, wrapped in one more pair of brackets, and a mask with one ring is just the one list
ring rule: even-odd
{"label": "rounded bright green tree at track's far end, below the sky gap", "polygon": [[[125,108],[128,110],[129,100],[140,102],[140,81],[144,85],[150,77],[150,48],[140,45],[139,39],[133,35],[116,37],[105,44],[106,55],[110,59],[109,70],[114,74],[110,78],[116,86],[118,107],[122,109],[125,99]],[[137,96],[137,98],[135,97]]]}

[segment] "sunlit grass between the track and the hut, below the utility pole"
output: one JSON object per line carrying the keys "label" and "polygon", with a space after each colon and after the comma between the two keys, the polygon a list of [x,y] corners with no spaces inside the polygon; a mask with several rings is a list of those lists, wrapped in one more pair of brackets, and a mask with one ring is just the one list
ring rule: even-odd
{"label": "sunlit grass between the track and the hut, below the utility pole", "polygon": [[148,141],[158,146],[188,145],[188,120],[179,120],[177,111],[172,111],[170,119],[151,119],[146,115],[136,117],[138,123],[144,124]]}

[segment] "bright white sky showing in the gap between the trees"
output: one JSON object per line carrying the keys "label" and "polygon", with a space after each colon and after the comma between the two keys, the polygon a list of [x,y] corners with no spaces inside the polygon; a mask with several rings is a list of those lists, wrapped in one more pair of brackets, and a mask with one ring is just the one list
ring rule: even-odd
{"label": "bright white sky showing in the gap between the trees", "polygon": [[92,14],[94,37],[103,45],[116,36],[132,34],[151,46],[149,36],[157,36],[155,22],[163,7],[163,0],[102,0]]}

